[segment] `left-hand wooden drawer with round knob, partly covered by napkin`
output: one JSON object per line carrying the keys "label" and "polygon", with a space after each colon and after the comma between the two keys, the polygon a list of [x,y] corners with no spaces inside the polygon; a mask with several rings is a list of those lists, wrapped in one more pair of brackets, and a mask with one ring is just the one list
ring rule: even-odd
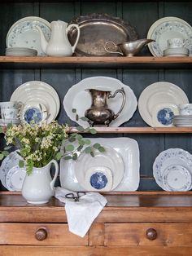
{"label": "left-hand wooden drawer with round knob, partly covered by napkin", "polygon": [[0,245],[88,245],[68,231],[68,224],[0,223]]}

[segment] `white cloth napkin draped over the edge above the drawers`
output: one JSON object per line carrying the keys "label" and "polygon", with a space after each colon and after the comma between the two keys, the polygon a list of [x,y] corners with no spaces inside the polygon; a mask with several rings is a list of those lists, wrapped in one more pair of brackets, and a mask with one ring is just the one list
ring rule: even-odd
{"label": "white cloth napkin draped over the edge above the drawers", "polygon": [[69,231],[83,237],[107,204],[107,200],[98,192],[86,192],[85,196],[79,197],[79,201],[74,201],[74,199],[65,197],[68,193],[76,196],[76,192],[65,188],[55,188],[55,197],[65,203]]}

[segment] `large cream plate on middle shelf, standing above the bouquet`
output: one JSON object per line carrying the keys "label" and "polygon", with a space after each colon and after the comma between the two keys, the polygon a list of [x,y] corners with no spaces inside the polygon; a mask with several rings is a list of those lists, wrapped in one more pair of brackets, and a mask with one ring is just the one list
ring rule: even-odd
{"label": "large cream plate on middle shelf, standing above the bouquet", "polygon": [[[46,108],[46,114],[50,115],[47,122],[55,120],[59,113],[60,101],[56,90],[46,82],[29,81],[16,88],[11,95],[11,101],[20,101],[24,105],[39,105]],[[23,108],[25,109],[25,108]],[[24,113],[21,113],[24,117]]]}

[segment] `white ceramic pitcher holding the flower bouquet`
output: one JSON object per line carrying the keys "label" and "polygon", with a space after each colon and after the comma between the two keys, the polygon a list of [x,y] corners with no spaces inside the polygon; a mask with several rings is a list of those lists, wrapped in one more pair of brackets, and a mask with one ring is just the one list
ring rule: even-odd
{"label": "white ceramic pitcher holding the flower bouquet", "polygon": [[[55,175],[50,176],[50,166],[55,165]],[[22,188],[22,196],[30,204],[45,204],[55,194],[55,180],[59,173],[57,161],[51,160],[46,166],[41,168],[33,167],[33,173],[26,175]]]}

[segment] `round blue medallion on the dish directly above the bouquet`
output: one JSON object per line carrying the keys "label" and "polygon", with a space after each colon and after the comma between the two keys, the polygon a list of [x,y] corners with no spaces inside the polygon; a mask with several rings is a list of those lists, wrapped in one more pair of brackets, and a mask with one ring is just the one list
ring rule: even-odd
{"label": "round blue medallion on the dish directly above the bouquet", "polygon": [[42,113],[39,108],[28,108],[24,113],[24,121],[29,123],[39,123],[42,121]]}

